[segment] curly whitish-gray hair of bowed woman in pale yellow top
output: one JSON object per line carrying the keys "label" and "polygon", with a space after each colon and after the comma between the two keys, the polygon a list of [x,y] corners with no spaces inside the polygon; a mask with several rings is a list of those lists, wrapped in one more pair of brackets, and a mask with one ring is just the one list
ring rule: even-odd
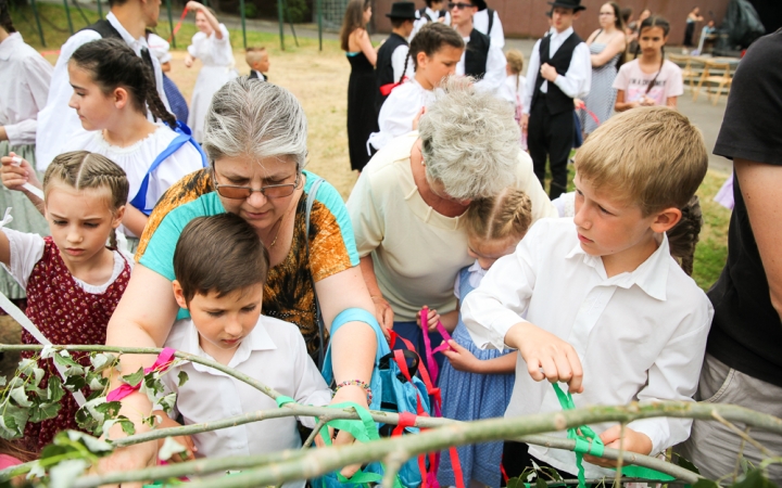
{"label": "curly whitish-gray hair of bowed woman in pale yellow top", "polygon": [[427,177],[457,200],[497,195],[516,181],[519,130],[506,101],[450,77],[419,124]]}

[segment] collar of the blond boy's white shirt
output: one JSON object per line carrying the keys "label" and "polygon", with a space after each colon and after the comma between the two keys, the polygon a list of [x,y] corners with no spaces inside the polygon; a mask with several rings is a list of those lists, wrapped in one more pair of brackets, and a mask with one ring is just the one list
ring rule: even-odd
{"label": "collar of the blond boy's white shirt", "polygon": [[581,256],[584,265],[593,268],[603,279],[603,286],[619,286],[622,288],[631,288],[638,285],[648,296],[658,300],[666,299],[666,284],[668,283],[668,266],[670,257],[670,247],[668,245],[668,236],[664,233],[657,246],[657,251],[646,258],[635,270],[617,274],[608,278],[603,266],[603,259],[600,256],[586,254],[581,245],[577,242],[576,246],[568,253],[566,259],[577,259]]}

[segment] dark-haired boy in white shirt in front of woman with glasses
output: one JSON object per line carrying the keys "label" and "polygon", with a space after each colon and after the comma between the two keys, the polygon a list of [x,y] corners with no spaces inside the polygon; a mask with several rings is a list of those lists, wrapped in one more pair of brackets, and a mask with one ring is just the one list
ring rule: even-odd
{"label": "dark-haired boy in white shirt in front of woman with glasses", "polygon": [[[299,328],[261,314],[268,267],[266,248],[241,217],[226,213],[190,221],[174,253],[173,282],[177,304],[190,319],[174,325],[165,345],[234,368],[300,403],[328,404],[331,390]],[[189,377],[181,386],[179,371]],[[162,381],[177,394],[172,418],[181,414],[186,425],[277,408],[247,383],[197,363],[177,367]],[[315,426],[312,418],[300,420]],[[175,422],[164,418],[163,424]],[[301,437],[289,416],[197,434],[186,444],[194,445],[198,458],[227,458],[298,449]],[[283,486],[304,487],[304,481]]]}

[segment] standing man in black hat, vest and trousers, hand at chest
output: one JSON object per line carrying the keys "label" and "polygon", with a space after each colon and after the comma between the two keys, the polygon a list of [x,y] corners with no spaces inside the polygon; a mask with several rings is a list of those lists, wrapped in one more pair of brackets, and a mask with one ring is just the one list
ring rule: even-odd
{"label": "standing man in black hat, vest and trousers, hand at chest", "polygon": [[567,188],[567,162],[573,144],[573,99],[583,98],[592,85],[590,51],[573,31],[572,23],[584,10],[581,0],[555,0],[552,27],[532,49],[521,130],[534,172],[543,184],[546,158],[550,160],[552,200]]}

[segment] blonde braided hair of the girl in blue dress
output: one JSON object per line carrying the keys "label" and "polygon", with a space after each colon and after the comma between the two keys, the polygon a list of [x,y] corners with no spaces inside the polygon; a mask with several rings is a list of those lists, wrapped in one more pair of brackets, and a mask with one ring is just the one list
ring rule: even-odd
{"label": "blonde braided hair of the girl in blue dress", "polygon": [[470,203],[465,214],[468,235],[487,241],[521,239],[532,223],[532,201],[525,192],[505,189],[496,196]]}

